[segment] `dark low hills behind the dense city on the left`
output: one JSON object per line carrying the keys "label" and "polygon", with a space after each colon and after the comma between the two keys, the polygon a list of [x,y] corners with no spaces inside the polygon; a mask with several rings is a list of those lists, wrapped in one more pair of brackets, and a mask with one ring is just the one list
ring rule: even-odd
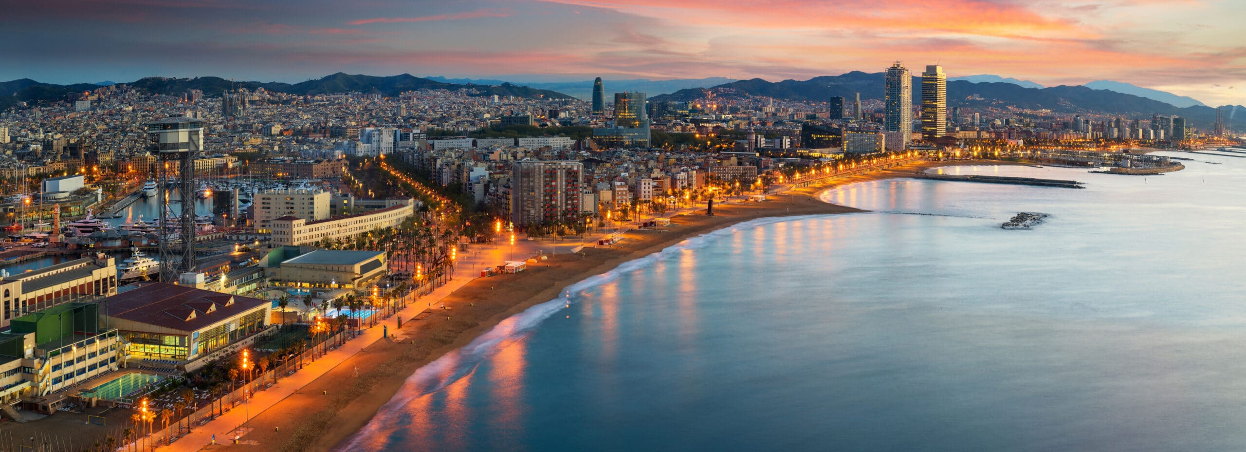
{"label": "dark low hills behind the dense city on the left", "polygon": [[[128,84],[130,87],[140,89],[152,94],[183,95],[186,90],[203,90],[204,95],[214,96],[231,87],[257,90],[263,87],[268,91],[285,92],[294,95],[318,95],[334,92],[364,92],[380,94],[383,96],[397,96],[402,91],[411,90],[460,90],[470,89],[473,96],[521,96],[546,99],[572,99],[557,91],[540,90],[527,86],[517,86],[507,82],[497,85],[480,84],[447,84],[429,79],[421,79],[410,74],[394,76],[371,76],[333,74],[316,80],[302,81],[298,84],[284,82],[259,82],[259,81],[229,81],[222,77],[194,77],[194,79],[169,79],[169,77],[145,77]],[[90,91],[100,87],[97,84],[72,84],[55,85],[44,84],[30,79],[19,79],[0,82],[0,110],[17,105],[17,102],[39,104],[46,101],[62,100],[70,92]]]}

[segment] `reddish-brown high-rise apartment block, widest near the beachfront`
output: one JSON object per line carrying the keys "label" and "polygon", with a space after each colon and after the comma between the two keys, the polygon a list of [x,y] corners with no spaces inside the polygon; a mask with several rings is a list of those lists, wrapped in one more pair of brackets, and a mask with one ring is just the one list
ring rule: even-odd
{"label": "reddish-brown high-rise apartment block, widest near the beachfront", "polygon": [[516,162],[511,166],[511,222],[523,227],[578,219],[584,165],[573,160]]}

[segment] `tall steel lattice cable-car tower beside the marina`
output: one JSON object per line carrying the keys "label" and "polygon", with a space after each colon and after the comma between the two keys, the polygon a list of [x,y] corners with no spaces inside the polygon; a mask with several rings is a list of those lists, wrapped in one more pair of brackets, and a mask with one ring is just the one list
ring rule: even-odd
{"label": "tall steel lattice cable-car tower beside the marina", "polygon": [[[177,282],[182,272],[194,271],[194,157],[203,149],[203,121],[169,116],[148,122],[147,135],[159,175],[159,280]],[[177,216],[169,215],[169,185],[182,197]],[[172,221],[177,231],[168,227]]]}

